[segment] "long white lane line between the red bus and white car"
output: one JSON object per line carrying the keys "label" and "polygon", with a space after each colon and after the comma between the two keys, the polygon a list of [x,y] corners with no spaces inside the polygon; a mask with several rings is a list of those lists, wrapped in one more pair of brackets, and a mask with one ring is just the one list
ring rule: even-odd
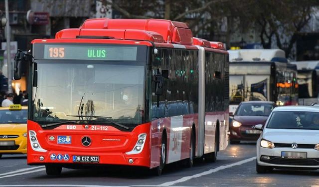
{"label": "long white lane line between the red bus and white car", "polygon": [[178,179],[176,181],[171,181],[171,182],[160,184],[160,185],[158,185],[158,187],[161,187],[161,186],[172,186],[172,185],[174,185],[176,183],[182,183],[182,182],[188,181],[188,180],[193,179],[193,178],[198,178],[198,177],[201,177],[201,176],[212,174],[212,173],[215,173],[215,172],[218,172],[218,171],[221,171],[221,170],[225,170],[227,168],[231,168],[231,167],[234,167],[234,166],[239,166],[239,165],[251,162],[251,161],[253,161],[255,159],[256,159],[256,157],[252,157],[252,158],[245,159],[245,160],[233,163],[233,164],[220,166],[220,167],[217,167],[215,169],[208,170],[206,172],[202,172],[202,173],[195,174],[195,175],[192,175],[192,176],[183,177],[183,178],[180,178],[180,179]]}

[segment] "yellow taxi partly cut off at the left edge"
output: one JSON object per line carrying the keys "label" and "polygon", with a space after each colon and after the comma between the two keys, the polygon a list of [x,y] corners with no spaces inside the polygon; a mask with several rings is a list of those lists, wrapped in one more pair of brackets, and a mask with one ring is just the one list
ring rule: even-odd
{"label": "yellow taxi partly cut off at the left edge", "polygon": [[0,107],[0,158],[3,154],[26,154],[27,107]]}

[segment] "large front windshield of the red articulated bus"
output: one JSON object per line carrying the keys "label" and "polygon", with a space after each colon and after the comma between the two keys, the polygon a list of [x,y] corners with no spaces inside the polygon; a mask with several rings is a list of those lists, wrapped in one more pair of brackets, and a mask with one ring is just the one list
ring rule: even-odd
{"label": "large front windshield of the red articulated bus", "polygon": [[35,62],[38,82],[32,90],[31,120],[52,123],[106,116],[123,124],[142,122],[145,65],[97,60]]}

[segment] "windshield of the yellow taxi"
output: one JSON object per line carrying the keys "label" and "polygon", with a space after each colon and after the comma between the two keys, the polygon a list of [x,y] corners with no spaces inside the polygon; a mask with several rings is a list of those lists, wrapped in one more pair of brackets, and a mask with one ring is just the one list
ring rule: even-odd
{"label": "windshield of the yellow taxi", "polygon": [[27,110],[0,110],[0,123],[26,123]]}

